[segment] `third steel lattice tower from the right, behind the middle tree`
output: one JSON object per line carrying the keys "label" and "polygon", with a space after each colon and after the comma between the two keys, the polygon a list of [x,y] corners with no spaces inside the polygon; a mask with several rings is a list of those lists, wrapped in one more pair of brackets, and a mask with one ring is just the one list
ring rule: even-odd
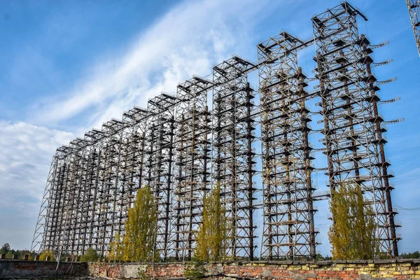
{"label": "third steel lattice tower from the right, behind the middle tree", "polygon": [[255,138],[252,99],[247,73],[254,65],[232,57],[214,66],[213,184],[221,187],[228,218],[226,255],[253,259],[253,175]]}

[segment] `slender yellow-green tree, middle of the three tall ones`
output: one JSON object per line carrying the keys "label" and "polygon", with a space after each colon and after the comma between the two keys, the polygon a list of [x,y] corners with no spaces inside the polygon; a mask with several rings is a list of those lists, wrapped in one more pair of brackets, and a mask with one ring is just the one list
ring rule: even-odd
{"label": "slender yellow-green tree, middle of the three tall ones", "polygon": [[225,207],[221,204],[221,186],[218,185],[208,196],[204,196],[202,224],[195,235],[194,256],[201,261],[218,261],[225,257],[228,221]]}

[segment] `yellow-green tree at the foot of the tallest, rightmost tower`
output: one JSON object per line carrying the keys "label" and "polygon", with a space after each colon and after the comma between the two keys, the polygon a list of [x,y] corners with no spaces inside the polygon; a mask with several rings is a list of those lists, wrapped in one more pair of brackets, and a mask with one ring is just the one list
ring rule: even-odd
{"label": "yellow-green tree at the foot of the tallest, rightmost tower", "polygon": [[372,259],[378,253],[377,223],[372,206],[363,199],[357,184],[342,183],[331,191],[334,222],[328,232],[332,259]]}

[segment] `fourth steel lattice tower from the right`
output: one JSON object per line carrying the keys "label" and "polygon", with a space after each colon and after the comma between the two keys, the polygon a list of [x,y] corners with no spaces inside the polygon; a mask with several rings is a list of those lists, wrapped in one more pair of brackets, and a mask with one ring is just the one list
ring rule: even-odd
{"label": "fourth steel lattice tower from the right", "polygon": [[212,83],[200,77],[177,87],[172,246],[177,260],[190,260],[195,232],[202,223],[203,198],[209,191],[209,133],[207,94]]}

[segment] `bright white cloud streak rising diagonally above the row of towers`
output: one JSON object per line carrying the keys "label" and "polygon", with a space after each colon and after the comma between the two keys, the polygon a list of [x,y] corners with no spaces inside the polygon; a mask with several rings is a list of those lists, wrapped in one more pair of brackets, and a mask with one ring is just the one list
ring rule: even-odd
{"label": "bright white cloud streak rising diagonally above the row of towers", "polygon": [[250,22],[264,2],[181,3],[139,36],[126,55],[100,59],[87,71],[92,73],[89,78],[76,82],[69,92],[57,93],[64,100],[41,106],[38,121],[50,125],[89,109],[85,127],[99,127],[134,104],[146,106],[148,98],[174,92],[193,74],[211,73],[211,67],[232,52],[249,50]]}

